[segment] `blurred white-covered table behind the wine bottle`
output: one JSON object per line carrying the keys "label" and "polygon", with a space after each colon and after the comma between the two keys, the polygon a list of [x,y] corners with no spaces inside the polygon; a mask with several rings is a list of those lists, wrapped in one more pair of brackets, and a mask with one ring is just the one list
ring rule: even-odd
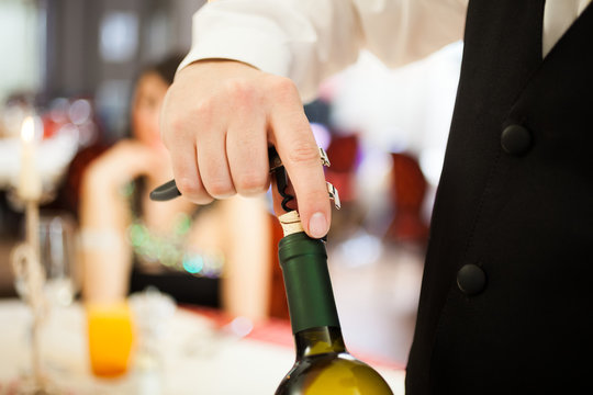
{"label": "blurred white-covered table behind the wine bottle", "polygon": [[[0,300],[0,394],[29,365],[30,320],[22,302]],[[75,304],[52,312],[43,332],[42,353],[53,382],[71,395],[273,394],[294,362],[292,346],[283,345],[290,336],[289,327],[264,323],[240,337],[232,335],[223,321],[208,311],[177,308],[163,339],[159,374],[146,376],[133,368],[122,379],[100,380],[90,373],[85,315]],[[394,394],[404,394],[402,369],[371,364]]]}

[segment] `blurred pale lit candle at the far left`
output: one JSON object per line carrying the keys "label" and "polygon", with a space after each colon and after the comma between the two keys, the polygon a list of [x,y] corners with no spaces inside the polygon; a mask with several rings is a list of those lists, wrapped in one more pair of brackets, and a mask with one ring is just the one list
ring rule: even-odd
{"label": "blurred pale lit candle at the far left", "polygon": [[25,201],[37,201],[42,193],[42,180],[37,171],[35,120],[27,116],[21,127],[21,174],[19,195]]}

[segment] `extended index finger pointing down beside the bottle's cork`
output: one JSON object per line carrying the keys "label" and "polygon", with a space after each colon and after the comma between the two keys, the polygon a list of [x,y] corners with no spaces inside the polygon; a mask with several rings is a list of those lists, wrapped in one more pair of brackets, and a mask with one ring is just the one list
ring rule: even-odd
{"label": "extended index finger pointing down beside the bottle's cork", "polygon": [[320,238],[329,229],[331,208],[318,148],[296,89],[289,80],[277,83],[270,112],[272,139],[294,188],[303,227],[309,236]]}

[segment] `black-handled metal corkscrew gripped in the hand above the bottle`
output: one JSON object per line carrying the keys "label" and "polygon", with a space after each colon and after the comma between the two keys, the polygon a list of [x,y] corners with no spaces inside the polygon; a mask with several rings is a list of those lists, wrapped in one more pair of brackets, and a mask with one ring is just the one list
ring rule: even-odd
{"label": "black-handled metal corkscrew gripped in the hand above the bottle", "polygon": [[[284,169],[284,165],[282,165],[282,161],[280,160],[280,157],[278,156],[278,151],[276,150],[273,146],[270,146],[268,148],[268,159],[270,163],[270,173],[273,174],[273,177],[276,178],[276,188],[280,196],[282,196],[282,202],[281,202],[282,210],[284,210],[286,212],[290,212],[292,211],[292,208],[290,208],[288,204],[292,200],[294,200],[294,196],[287,192],[287,189],[289,185],[289,178],[287,174],[287,170]],[[329,167],[331,163],[329,163],[329,159],[327,158],[327,154],[321,147],[320,147],[320,159],[323,166]],[[329,199],[334,201],[334,205],[336,206],[336,208],[339,210],[342,205],[339,202],[339,195],[336,188],[329,182],[326,182],[326,184],[327,184],[327,193],[329,194]],[[150,192],[150,200],[168,201],[180,195],[181,195],[181,192],[177,188],[175,180],[170,180],[164,183],[163,185],[154,189]]]}

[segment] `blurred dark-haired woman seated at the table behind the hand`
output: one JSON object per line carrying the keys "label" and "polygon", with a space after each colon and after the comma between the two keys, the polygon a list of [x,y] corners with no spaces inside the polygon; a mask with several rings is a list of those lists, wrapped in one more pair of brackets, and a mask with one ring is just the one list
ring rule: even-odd
{"label": "blurred dark-haired woman seated at the table behind the hand", "polygon": [[181,304],[261,318],[271,260],[264,199],[237,196],[197,206],[183,198],[148,198],[172,178],[159,115],[181,59],[170,57],[141,74],[132,101],[132,137],[85,172],[79,213],[83,295],[87,302],[112,303],[154,285]]}

